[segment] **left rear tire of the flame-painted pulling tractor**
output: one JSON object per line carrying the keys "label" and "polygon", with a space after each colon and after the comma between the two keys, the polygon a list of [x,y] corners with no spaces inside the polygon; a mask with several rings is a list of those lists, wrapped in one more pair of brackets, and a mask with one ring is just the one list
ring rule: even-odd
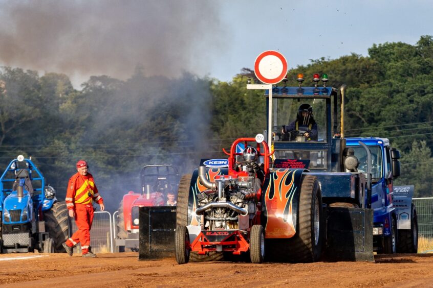
{"label": "left rear tire of the flame-painted pulling tractor", "polygon": [[[191,185],[191,174],[182,176],[178,190],[178,204],[176,207],[176,225],[188,225],[188,200],[189,186]],[[199,255],[191,251],[189,256],[190,262],[220,261],[223,259],[223,252],[209,252],[206,255]]]}

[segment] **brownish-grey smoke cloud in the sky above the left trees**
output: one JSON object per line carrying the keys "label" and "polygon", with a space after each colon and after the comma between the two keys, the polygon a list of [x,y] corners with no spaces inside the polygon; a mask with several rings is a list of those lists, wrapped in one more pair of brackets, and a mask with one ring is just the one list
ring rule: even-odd
{"label": "brownish-grey smoke cloud in the sky above the left trees", "polygon": [[0,62],[68,75],[179,76],[220,48],[219,7],[199,0],[5,1]]}

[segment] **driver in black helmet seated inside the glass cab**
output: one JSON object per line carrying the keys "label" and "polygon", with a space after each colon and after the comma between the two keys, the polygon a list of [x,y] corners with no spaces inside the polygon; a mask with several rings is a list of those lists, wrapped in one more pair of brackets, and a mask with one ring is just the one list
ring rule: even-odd
{"label": "driver in black helmet seated inside the glass cab", "polygon": [[299,106],[296,120],[283,126],[282,132],[283,138],[289,138],[290,132],[290,141],[295,140],[298,135],[305,136],[306,141],[317,141],[317,124],[313,117],[313,107],[307,103]]}

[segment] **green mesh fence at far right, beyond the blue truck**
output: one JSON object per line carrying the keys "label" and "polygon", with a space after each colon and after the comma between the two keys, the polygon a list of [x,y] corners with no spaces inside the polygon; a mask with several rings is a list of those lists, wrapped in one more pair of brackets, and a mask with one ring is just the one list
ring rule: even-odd
{"label": "green mesh fence at far right, beyond the blue truck", "polygon": [[417,208],[418,235],[433,238],[433,197],[412,200]]}

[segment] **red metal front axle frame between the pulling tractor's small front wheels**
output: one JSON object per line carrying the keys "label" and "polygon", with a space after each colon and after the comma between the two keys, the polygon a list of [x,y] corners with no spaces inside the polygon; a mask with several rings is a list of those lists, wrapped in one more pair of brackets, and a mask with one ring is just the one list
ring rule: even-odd
{"label": "red metal front axle frame between the pulling tractor's small front wheels", "polygon": [[[228,231],[228,230],[222,230]],[[199,255],[204,255],[206,252],[216,251],[216,247],[209,247],[212,245],[222,245],[223,251],[233,252],[234,255],[239,255],[241,252],[247,252],[250,249],[250,244],[247,239],[242,235],[239,230],[228,231],[231,232],[227,237],[225,237],[222,241],[218,242],[210,242],[203,232],[194,239],[192,244],[190,245],[191,251],[197,251]],[[233,240],[228,240],[229,238],[234,237]],[[234,247],[224,247],[224,246],[234,246]]]}

